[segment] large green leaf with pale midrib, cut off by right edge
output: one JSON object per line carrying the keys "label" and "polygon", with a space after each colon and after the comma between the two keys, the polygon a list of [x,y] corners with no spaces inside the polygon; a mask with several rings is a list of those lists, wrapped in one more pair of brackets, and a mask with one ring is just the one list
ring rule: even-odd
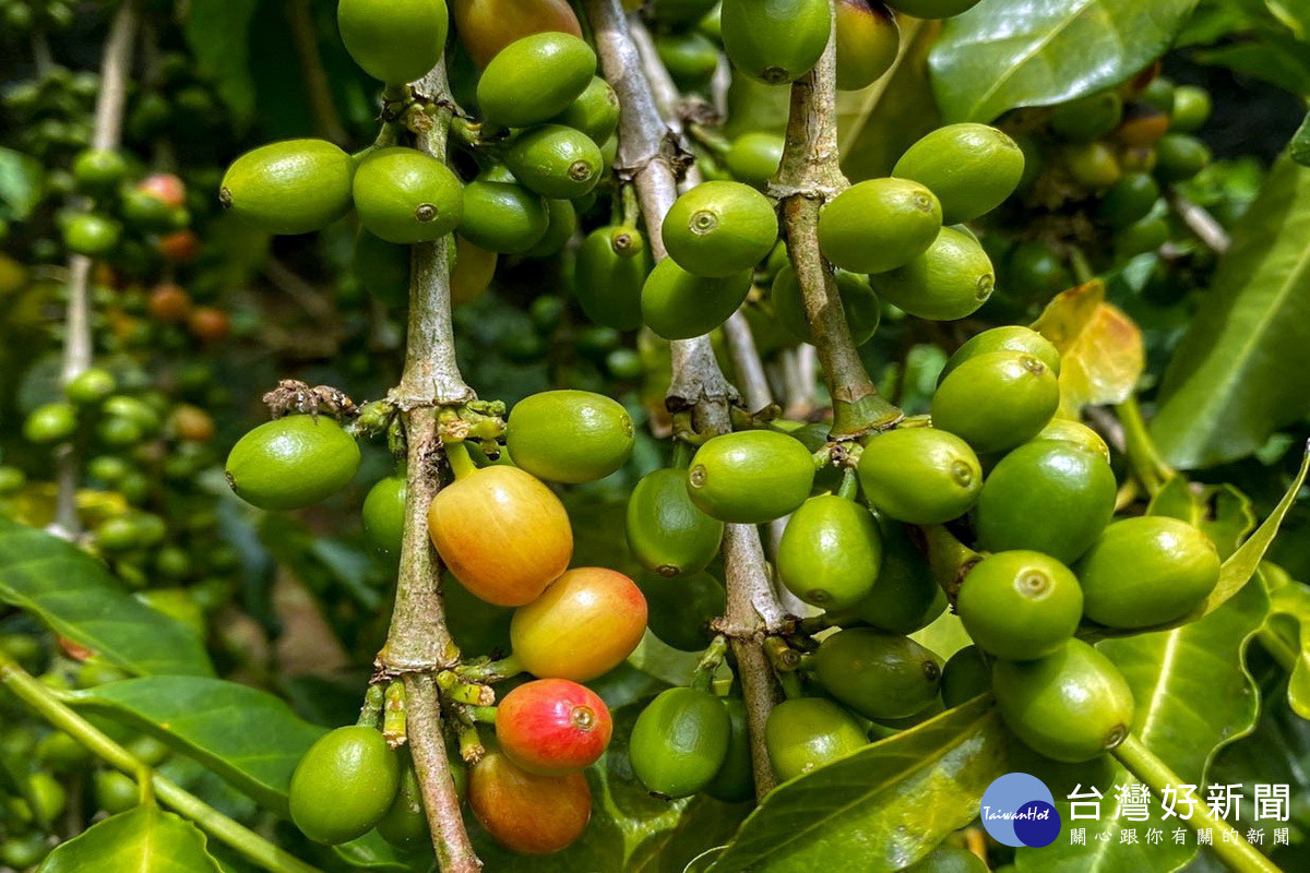
{"label": "large green leaf with pale midrib, cut off by right edge", "polygon": [[1310,168],[1271,170],[1165,370],[1151,436],[1180,469],[1234,461],[1305,416]]}

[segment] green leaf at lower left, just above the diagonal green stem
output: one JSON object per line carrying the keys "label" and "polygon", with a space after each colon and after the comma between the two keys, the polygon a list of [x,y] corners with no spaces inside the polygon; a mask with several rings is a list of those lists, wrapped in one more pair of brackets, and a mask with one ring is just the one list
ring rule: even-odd
{"label": "green leaf at lower left, just above the diagonal green stem", "polygon": [[280,814],[296,763],[325,733],[271,694],[224,679],[127,679],[75,702],[159,737]]}

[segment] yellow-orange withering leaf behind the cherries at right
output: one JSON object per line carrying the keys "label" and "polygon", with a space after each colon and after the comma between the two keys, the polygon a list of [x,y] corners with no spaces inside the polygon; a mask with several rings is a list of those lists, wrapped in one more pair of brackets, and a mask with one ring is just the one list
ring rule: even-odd
{"label": "yellow-orange withering leaf behind the cherries at right", "polygon": [[1106,302],[1099,281],[1070,288],[1052,300],[1034,330],[1060,349],[1060,412],[1077,416],[1083,406],[1123,403],[1145,366],[1137,325]]}

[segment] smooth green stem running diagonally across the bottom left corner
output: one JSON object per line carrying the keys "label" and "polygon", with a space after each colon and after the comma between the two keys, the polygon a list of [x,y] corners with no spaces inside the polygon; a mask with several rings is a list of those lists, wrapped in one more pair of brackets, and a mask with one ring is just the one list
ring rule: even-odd
{"label": "smooth green stem running diagonally across the bottom left corner", "polygon": [[183,791],[172,780],[159,775],[121,745],[106,737],[98,728],[55,698],[55,692],[18,666],[12,657],[0,652],[0,685],[34,709],[58,730],[85,746],[93,755],[132,779],[148,779],[148,789],[155,797],[215,839],[231,846],[242,857],[270,873],[321,873],[318,868],[282,851],[254,831],[232,821],[195,794]]}

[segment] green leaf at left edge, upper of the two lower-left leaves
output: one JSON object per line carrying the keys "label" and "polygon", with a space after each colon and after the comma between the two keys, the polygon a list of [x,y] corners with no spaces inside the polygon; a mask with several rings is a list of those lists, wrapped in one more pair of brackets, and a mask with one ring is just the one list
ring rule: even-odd
{"label": "green leaf at left edge, upper of the two lower-left leaves", "polygon": [[7,518],[0,518],[0,601],[128,673],[214,675],[191,628],[134,598],[76,546]]}

